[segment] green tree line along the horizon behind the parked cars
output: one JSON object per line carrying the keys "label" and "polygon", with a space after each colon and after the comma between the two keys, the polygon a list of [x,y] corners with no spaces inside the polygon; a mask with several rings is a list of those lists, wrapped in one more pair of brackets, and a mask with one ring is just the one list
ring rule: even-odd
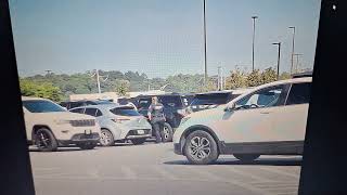
{"label": "green tree line along the horizon behind the parked cars", "polygon": [[[216,79],[209,77],[207,87],[204,86],[204,75],[202,74],[178,74],[167,78],[149,78],[145,74],[138,72],[103,72],[100,75],[107,75],[106,81],[101,81],[102,92],[117,92],[126,95],[129,91],[146,91],[162,89],[167,92],[205,92],[217,90]],[[290,78],[283,73],[281,79]],[[264,72],[259,69],[253,73],[233,70],[226,78],[226,89],[236,89],[255,87],[277,80],[274,69],[268,68]],[[22,95],[46,98],[53,101],[67,100],[69,94],[97,93],[98,86],[91,73],[47,74],[24,77],[20,80]]]}

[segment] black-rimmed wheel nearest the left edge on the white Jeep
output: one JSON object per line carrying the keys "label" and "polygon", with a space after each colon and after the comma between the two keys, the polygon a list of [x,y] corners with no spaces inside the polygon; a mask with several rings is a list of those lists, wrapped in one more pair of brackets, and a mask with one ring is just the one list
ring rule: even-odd
{"label": "black-rimmed wheel nearest the left edge on the white Jeep", "polygon": [[53,133],[47,128],[40,128],[36,131],[35,144],[41,152],[53,152],[57,150],[57,142]]}

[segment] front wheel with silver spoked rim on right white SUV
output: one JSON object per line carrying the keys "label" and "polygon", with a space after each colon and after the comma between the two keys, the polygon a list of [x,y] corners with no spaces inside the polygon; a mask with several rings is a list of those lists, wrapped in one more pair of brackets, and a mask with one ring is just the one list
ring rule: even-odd
{"label": "front wheel with silver spoked rim on right white SUV", "polygon": [[191,164],[208,165],[218,159],[218,147],[215,139],[206,131],[193,131],[187,138],[184,155]]}

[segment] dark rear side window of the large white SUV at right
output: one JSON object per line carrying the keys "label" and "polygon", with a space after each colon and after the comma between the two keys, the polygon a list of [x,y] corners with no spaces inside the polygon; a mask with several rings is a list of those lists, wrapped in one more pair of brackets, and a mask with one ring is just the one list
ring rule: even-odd
{"label": "dark rear side window of the large white SUV at right", "polygon": [[308,104],[310,101],[311,82],[293,83],[286,105]]}

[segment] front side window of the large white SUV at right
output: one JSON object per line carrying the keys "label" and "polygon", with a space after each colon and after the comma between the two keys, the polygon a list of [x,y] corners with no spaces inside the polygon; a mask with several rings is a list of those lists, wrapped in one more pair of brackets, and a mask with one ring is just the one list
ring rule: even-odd
{"label": "front side window of the large white SUV at right", "polygon": [[256,91],[235,103],[236,109],[273,107],[284,104],[285,84],[270,87]]}

